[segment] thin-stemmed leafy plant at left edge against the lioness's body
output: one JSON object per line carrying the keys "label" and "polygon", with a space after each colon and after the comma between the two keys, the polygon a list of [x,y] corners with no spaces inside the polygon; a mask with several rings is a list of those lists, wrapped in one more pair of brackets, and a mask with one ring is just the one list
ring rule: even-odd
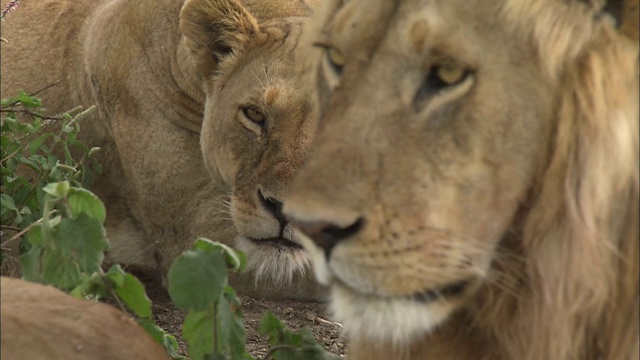
{"label": "thin-stemmed leafy plant at left edge against the lioness's body", "polygon": [[42,217],[39,204],[46,184],[66,180],[87,187],[101,171],[92,156],[98,148],[90,149],[77,139],[80,121],[94,107],[55,117],[41,115],[41,109],[40,100],[23,91],[2,100],[0,220],[4,230],[20,231]]}

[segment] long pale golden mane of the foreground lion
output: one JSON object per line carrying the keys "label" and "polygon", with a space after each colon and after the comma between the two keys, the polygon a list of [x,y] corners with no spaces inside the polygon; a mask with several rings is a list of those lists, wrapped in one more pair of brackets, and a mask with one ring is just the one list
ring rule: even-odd
{"label": "long pale golden mane of the foreground lion", "polygon": [[638,47],[582,21],[583,4],[550,5],[505,7],[563,89],[551,157],[515,235],[522,274],[506,269],[522,287],[488,286],[470,313],[500,358],[637,359]]}

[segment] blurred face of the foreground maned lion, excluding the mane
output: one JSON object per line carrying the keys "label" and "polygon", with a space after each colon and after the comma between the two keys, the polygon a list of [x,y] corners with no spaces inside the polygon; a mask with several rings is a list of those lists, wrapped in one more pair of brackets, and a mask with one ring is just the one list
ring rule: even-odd
{"label": "blurred face of the foreground maned lion, excluding the mane", "polygon": [[352,334],[410,339],[464,304],[541,171],[556,89],[502,5],[335,1],[317,19],[318,134],[284,207]]}

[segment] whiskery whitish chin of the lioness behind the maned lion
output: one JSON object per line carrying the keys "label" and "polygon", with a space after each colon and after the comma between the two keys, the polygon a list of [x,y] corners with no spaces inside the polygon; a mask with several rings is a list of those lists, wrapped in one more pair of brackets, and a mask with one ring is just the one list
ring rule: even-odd
{"label": "whiskery whitish chin of the lioness behind the maned lion", "polygon": [[247,271],[255,274],[256,284],[269,281],[277,286],[288,285],[311,267],[304,248],[290,240],[238,237],[236,245],[247,255]]}

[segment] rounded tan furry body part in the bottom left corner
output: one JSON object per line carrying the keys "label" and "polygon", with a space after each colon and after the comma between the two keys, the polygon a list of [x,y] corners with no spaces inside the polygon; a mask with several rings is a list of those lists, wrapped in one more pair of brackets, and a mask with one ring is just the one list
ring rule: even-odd
{"label": "rounded tan furry body part in the bottom left corner", "polygon": [[167,358],[162,346],[130,316],[107,304],[6,277],[0,294],[3,359]]}

